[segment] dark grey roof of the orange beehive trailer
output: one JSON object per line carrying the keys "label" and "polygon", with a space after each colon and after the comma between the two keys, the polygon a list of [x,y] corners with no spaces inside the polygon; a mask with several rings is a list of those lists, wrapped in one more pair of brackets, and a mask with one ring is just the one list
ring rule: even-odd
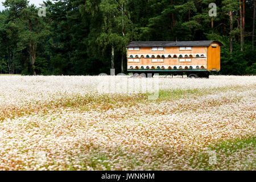
{"label": "dark grey roof of the orange beehive trailer", "polygon": [[176,47],[176,46],[210,46],[213,42],[223,44],[217,40],[199,40],[199,41],[153,41],[153,42],[130,42],[126,47]]}

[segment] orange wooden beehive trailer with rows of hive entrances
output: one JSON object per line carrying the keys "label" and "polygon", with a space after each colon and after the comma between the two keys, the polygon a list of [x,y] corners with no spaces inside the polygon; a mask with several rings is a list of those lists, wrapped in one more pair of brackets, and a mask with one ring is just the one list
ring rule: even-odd
{"label": "orange wooden beehive trailer with rows of hive entrances", "polygon": [[[130,42],[127,71],[132,73],[183,74],[209,77],[220,71],[220,47],[216,40],[184,42]],[[147,74],[146,74],[147,75]]]}

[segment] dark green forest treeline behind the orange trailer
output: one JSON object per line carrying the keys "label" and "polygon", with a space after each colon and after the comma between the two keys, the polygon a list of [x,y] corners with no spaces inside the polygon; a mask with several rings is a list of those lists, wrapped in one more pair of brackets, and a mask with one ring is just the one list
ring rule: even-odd
{"label": "dark green forest treeline behind the orange trailer", "polygon": [[[209,3],[217,16],[209,16]],[[126,72],[130,41],[220,40],[224,75],[256,74],[255,0],[27,0],[0,12],[0,73]]]}

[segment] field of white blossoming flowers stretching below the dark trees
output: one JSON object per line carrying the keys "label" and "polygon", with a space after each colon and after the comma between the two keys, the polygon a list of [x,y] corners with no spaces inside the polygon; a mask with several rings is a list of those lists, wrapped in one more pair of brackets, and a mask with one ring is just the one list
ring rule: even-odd
{"label": "field of white blossoming flowers stretching below the dark trees", "polygon": [[256,76],[0,76],[0,170],[255,170],[255,111]]}

